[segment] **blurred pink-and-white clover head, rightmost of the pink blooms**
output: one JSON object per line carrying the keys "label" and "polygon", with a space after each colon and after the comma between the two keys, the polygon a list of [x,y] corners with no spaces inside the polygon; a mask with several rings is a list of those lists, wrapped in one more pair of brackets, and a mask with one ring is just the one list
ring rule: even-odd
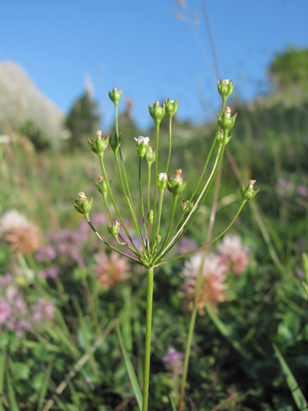
{"label": "blurred pink-and-white clover head, rightmost of the pink blooms", "polygon": [[248,248],[242,244],[240,236],[226,234],[223,241],[218,244],[217,249],[221,262],[234,274],[239,275],[246,270],[248,266]]}

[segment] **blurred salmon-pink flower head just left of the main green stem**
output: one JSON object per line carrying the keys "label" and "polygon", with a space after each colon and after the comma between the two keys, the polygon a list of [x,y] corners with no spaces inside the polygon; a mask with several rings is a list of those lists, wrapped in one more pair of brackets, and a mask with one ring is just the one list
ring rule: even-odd
{"label": "blurred salmon-pink flower head just left of the main green stem", "polygon": [[110,257],[99,252],[94,256],[96,265],[94,270],[103,289],[112,288],[130,277],[130,266],[123,257],[113,252]]}

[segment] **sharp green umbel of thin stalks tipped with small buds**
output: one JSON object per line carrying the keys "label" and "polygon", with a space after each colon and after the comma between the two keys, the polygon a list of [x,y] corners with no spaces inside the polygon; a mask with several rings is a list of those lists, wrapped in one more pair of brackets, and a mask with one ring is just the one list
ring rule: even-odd
{"label": "sharp green umbel of thin stalks tipped with small buds", "polygon": [[[190,199],[183,200],[182,202],[182,214],[177,222],[174,224],[174,216],[175,210],[178,203],[179,195],[182,195],[186,187],[186,181],[183,180],[182,169],[178,169],[175,173],[175,177],[172,178],[167,176],[168,173],[168,166],[170,162],[170,155],[171,155],[171,135],[172,135],[172,116],[175,114],[178,108],[179,102],[177,99],[175,100],[165,100],[163,102],[162,107],[159,106],[159,102],[155,101],[153,106],[149,105],[149,113],[152,116],[155,126],[156,126],[156,137],[155,137],[155,150],[149,145],[149,137],[138,136],[138,138],[134,137],[136,140],[136,151],[139,157],[139,196],[140,196],[140,205],[139,210],[141,210],[142,215],[142,225],[139,224],[140,218],[136,213],[135,205],[133,204],[133,200],[131,198],[131,193],[129,189],[129,185],[126,178],[126,171],[124,162],[122,159],[121,153],[121,134],[119,134],[118,130],[118,122],[117,122],[117,106],[119,100],[122,96],[122,90],[117,91],[116,88],[113,88],[112,92],[109,92],[109,97],[115,104],[115,124],[116,124],[116,132],[115,134],[110,134],[107,138],[104,138],[101,135],[101,131],[98,131],[96,134],[95,140],[89,140],[89,145],[92,151],[94,151],[98,157],[101,164],[102,175],[99,175],[98,182],[97,182],[97,189],[103,195],[104,203],[106,205],[106,211],[108,213],[110,224],[108,223],[108,232],[110,233],[113,238],[117,241],[119,245],[118,248],[113,247],[108,243],[108,241],[101,238],[99,233],[97,233],[96,229],[91,223],[89,212],[92,208],[92,198],[88,199],[87,196],[83,193],[79,193],[79,199],[75,201],[75,208],[80,213],[85,216],[85,219],[90,224],[92,230],[95,234],[100,238],[104,244],[106,244],[111,249],[115,250],[119,254],[122,254],[129,259],[134,260],[136,263],[144,266],[145,268],[150,267],[157,267],[161,266],[164,263],[167,263],[168,259],[165,259],[168,252],[175,244],[184,236],[185,232],[187,231],[190,224],[193,222],[200,206],[205,201],[209,188],[216,176],[218,171],[218,167],[221,164],[221,160],[223,157],[223,152],[225,149],[225,145],[228,144],[230,141],[231,136],[229,136],[230,129],[234,126],[234,122],[236,120],[237,114],[231,116],[231,110],[227,106],[225,108],[225,103],[227,98],[231,95],[233,91],[234,83],[229,80],[222,80],[218,82],[218,92],[222,97],[222,111],[221,115],[217,115],[218,120],[218,129],[216,135],[214,137],[214,141],[211,145],[209,150],[205,165],[203,170],[200,174],[196,187],[191,195]],[[159,170],[158,169],[158,158],[159,158],[159,126],[161,120],[164,115],[168,115],[169,118],[169,150],[168,150],[168,158],[166,159],[165,169]],[[129,206],[131,211],[131,216],[133,219],[133,223],[136,229],[136,232],[139,237],[139,241],[141,244],[141,248],[137,247],[135,242],[133,241],[133,236],[129,233],[129,230],[124,223],[120,209],[117,207],[116,200],[113,196],[113,192],[110,187],[110,179],[108,178],[107,171],[104,165],[104,152],[110,145],[111,149],[114,152],[115,160],[117,163],[117,171],[120,179],[120,184],[122,188],[123,195],[125,200]],[[203,182],[203,177],[205,174],[205,170],[207,169],[207,165],[209,163],[209,159],[211,155],[214,155],[214,148],[216,147],[216,157],[214,161],[214,166],[209,173],[209,176],[205,182]],[[147,179],[147,199],[144,201],[143,199],[143,190],[141,185],[141,162],[145,161],[147,163],[147,172],[148,172],[148,179]],[[152,192],[151,196],[151,178],[152,178],[152,164],[154,163],[154,191]],[[241,197],[242,202],[239,206],[239,210],[235,215],[234,219],[231,221],[228,227],[215,239],[211,240],[205,245],[202,245],[198,249],[190,250],[185,254],[181,254],[175,258],[179,258],[180,256],[191,254],[196,252],[202,248],[205,248],[207,245],[211,244],[214,240],[220,237],[228,228],[233,224],[237,215],[239,214],[241,208],[243,207],[244,203],[247,200],[253,198],[258,190],[253,190],[253,184],[255,180],[251,180],[249,185],[244,188],[242,184],[241,188]],[[202,191],[199,194],[198,198],[195,199],[195,194],[200,187],[203,185]],[[169,192],[173,195],[173,206],[172,210],[170,211],[170,218],[167,231],[161,230],[161,213],[163,210],[163,194],[165,188],[169,190]],[[111,215],[109,204],[113,204],[115,209],[116,217]],[[122,225],[126,236],[127,241],[120,235],[120,226]],[[163,239],[162,239],[163,235]],[[127,254],[125,252],[125,248],[128,248],[132,253]]]}

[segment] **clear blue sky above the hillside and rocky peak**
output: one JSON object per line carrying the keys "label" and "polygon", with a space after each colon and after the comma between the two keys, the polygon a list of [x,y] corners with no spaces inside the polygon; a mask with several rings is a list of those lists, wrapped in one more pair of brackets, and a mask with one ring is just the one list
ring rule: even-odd
{"label": "clear blue sky above the hillside and rocky peak", "polygon": [[[205,0],[219,77],[242,99],[268,89],[266,69],[288,46],[308,47],[307,0]],[[174,12],[182,14],[180,21]],[[200,25],[193,21],[198,15]],[[0,62],[23,67],[64,112],[90,78],[102,128],[113,118],[108,89],[121,87],[133,116],[151,123],[147,103],[179,99],[177,115],[199,123],[219,107],[217,76],[202,0],[13,0],[0,15]],[[121,104],[122,103],[122,104]]]}

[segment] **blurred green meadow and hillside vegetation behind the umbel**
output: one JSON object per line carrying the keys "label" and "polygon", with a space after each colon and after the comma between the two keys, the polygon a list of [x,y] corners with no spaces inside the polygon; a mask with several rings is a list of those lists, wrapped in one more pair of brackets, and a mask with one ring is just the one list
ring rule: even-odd
{"label": "blurred green meadow and hillside vegetation behind the umbel", "polygon": [[[213,236],[236,212],[242,180],[246,184],[251,178],[257,180],[255,187],[260,192],[232,226],[232,233],[241,236],[249,249],[249,262],[241,275],[230,272],[226,279],[228,299],[217,305],[217,316],[225,328],[209,314],[198,316],[186,410],[297,409],[273,343],[308,397],[308,296],[302,285],[308,233],[306,60],[307,50],[291,49],[277,56],[269,69],[276,87],[271,95],[249,104],[229,102],[238,116],[223,160]],[[31,123],[19,129],[6,126],[8,139],[0,143],[2,218],[7,211],[18,210],[39,228],[39,242],[45,247],[44,256],[38,255],[39,250],[18,253],[2,236],[0,304],[9,273],[9,284],[18,289],[26,316],[34,316],[33,307],[40,298],[54,307],[51,318],[32,321],[21,332],[16,323],[15,328],[5,326],[0,307],[0,410],[138,409],[116,325],[120,324],[125,349],[141,383],[145,272],[113,259],[71,205],[79,191],[93,194],[91,213],[100,232],[107,235],[103,201],[93,184],[100,173],[99,162],[90,149],[77,149],[83,146],[81,137],[93,132],[98,120],[95,103],[82,104],[86,97],[74,104],[66,120],[76,139],[74,150],[67,149],[69,144],[62,152],[51,150]],[[84,127],[79,127],[84,114]],[[170,174],[183,169],[184,178],[189,179],[186,198],[202,170],[215,129],[215,121],[198,127],[175,123]],[[138,131],[126,104],[120,131],[135,196],[138,160],[133,137],[148,135],[151,141],[154,130]],[[163,157],[168,152],[167,126],[162,125],[160,141]],[[106,157],[116,192],[119,183],[111,150]],[[171,195],[165,195],[164,201],[171,205]],[[205,242],[211,199],[200,211],[188,232],[188,239],[197,245]],[[167,211],[163,219],[167,224]],[[54,254],[48,255],[46,247]],[[215,250],[216,245],[211,251]],[[190,316],[183,298],[184,264],[180,259],[162,266],[154,278],[151,410],[172,409],[170,397],[175,403],[178,398],[181,370],[168,367],[163,357],[171,347],[185,351]],[[106,273],[113,279],[108,284]],[[16,312],[11,316],[19,318]]]}

